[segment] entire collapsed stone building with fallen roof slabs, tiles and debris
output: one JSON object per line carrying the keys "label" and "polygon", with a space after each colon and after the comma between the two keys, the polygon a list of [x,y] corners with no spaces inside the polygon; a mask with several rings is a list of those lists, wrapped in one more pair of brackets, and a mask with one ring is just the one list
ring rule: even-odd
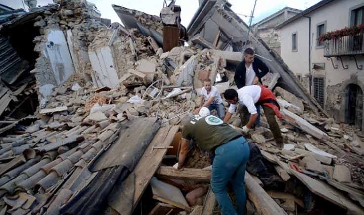
{"label": "entire collapsed stone building with fallen roof slabs, tiles and debris", "polygon": [[[0,214],[219,214],[206,153],[193,147],[186,168],[172,167],[179,116],[197,107],[207,77],[221,92],[234,87],[244,47],[271,70],[264,84],[278,96],[287,139],[278,148],[264,118],[246,136],[280,179],[270,187],[248,168],[247,214],[364,213],[364,135],[328,118],[262,40],[246,40],[248,26],[228,2],[201,1],[186,28],[189,47],[180,46],[187,37],[174,4],[162,10],[176,14],[172,26],[117,5],[124,26],[105,26],[83,0],[55,3],[0,31],[9,68],[1,73]],[[242,126],[236,114],[229,123]]]}

